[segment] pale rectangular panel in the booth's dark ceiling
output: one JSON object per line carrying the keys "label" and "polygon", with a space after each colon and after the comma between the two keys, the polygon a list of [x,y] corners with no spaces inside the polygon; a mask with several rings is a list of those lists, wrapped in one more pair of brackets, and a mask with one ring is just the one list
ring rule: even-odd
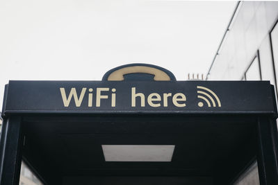
{"label": "pale rectangular panel in the booth's dark ceiling", "polygon": [[172,161],[174,146],[101,145],[105,161]]}

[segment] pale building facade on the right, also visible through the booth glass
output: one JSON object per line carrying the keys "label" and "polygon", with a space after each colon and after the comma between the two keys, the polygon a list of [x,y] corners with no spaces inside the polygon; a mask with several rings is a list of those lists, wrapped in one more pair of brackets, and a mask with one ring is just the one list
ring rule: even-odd
{"label": "pale building facade on the right, also visible through the booth glass", "polygon": [[[278,1],[240,1],[207,80],[270,80],[277,95]],[[256,162],[235,184],[259,184]]]}

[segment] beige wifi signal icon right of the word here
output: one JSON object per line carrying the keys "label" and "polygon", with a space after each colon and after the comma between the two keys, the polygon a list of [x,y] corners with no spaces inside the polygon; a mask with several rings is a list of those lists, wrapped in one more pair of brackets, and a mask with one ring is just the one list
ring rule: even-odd
{"label": "beige wifi signal icon right of the word here", "polygon": [[[221,107],[221,103],[218,96],[213,91],[211,91],[211,89],[202,86],[197,86],[197,89],[199,89],[197,90],[197,98],[201,98],[202,100],[204,100],[208,107],[211,107],[211,103],[213,104],[213,107],[216,107],[215,100],[217,101],[218,107]],[[204,103],[200,101],[198,103],[198,106],[203,107]]]}

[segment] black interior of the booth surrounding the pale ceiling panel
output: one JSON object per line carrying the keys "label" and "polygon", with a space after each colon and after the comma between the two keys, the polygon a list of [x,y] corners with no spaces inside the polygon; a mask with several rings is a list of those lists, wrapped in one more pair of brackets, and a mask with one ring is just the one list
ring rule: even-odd
{"label": "black interior of the booth surrounding the pale ceiling panel", "polygon": [[[22,156],[46,184],[229,184],[256,160],[256,121],[236,115],[24,116]],[[105,145],[174,150],[170,161],[106,161]]]}

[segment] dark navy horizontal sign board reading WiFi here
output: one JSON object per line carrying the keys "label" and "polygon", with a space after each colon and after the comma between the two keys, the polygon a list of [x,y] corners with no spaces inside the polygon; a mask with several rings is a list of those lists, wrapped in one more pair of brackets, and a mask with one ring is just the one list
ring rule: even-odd
{"label": "dark navy horizontal sign board reading WiFi here", "polygon": [[3,114],[271,113],[266,81],[10,81]]}

